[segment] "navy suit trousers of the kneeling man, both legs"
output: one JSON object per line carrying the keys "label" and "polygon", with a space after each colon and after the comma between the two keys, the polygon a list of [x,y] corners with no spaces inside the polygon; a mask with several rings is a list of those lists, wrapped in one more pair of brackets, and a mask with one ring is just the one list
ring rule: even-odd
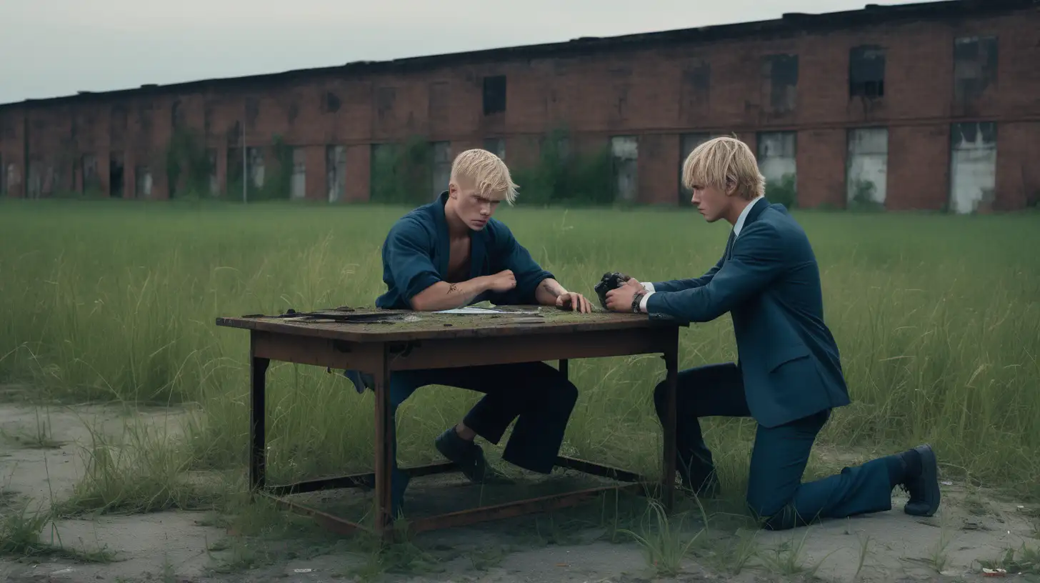
{"label": "navy suit trousers of the kneeling man, both legs", "polygon": [[[654,391],[664,420],[665,383]],[[679,373],[676,389],[677,463],[693,487],[713,479],[714,463],[698,421],[706,416],[750,417],[744,381],[735,363],[708,364]],[[884,458],[846,467],[839,474],[802,482],[809,452],[830,410],[778,427],[758,426],[751,454],[747,502],[770,530],[806,526],[818,518],[840,518],[891,509],[892,487]]]}

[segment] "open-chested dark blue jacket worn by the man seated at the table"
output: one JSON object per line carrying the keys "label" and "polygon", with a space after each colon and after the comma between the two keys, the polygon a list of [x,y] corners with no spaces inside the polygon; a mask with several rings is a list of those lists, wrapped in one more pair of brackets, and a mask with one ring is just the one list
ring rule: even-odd
{"label": "open-chested dark blue jacket worn by the man seated at the table", "polygon": [[[412,309],[412,298],[443,281],[450,255],[448,225],[444,219],[447,191],[437,200],[405,214],[390,228],[383,243],[383,281],[387,290],[375,300],[385,309]],[[479,231],[470,231],[469,279],[512,270],[516,287],[505,293],[485,292],[470,304],[537,304],[535,290],[553,277],[531,258],[509,227],[491,219]]]}

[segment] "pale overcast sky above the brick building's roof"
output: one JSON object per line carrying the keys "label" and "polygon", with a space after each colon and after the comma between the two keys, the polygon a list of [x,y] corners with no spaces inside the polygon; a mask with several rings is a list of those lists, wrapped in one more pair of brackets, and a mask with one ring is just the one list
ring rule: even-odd
{"label": "pale overcast sky above the brick building's roof", "polygon": [[[901,0],[0,0],[0,103]],[[712,7],[708,7],[712,6]]]}

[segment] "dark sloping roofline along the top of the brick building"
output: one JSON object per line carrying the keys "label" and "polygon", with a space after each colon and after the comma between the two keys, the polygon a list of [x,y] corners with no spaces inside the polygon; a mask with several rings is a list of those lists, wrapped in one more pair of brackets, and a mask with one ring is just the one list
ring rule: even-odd
{"label": "dark sloping roofline along the top of the brick building", "polygon": [[779,19],[763,21],[640,32],[617,36],[581,36],[558,43],[519,45],[388,60],[359,60],[339,66],[293,69],[278,73],[262,73],[237,77],[208,78],[162,85],[147,83],[132,88],[105,92],[79,92],[77,95],[0,103],[0,109],[17,105],[53,105],[73,101],[109,100],[123,96],[168,95],[171,93],[212,90],[227,85],[263,84],[270,81],[311,78],[330,74],[361,76],[387,72],[417,71],[445,65],[508,61],[521,58],[552,56],[577,56],[619,49],[645,49],[676,42],[703,44],[747,36],[772,36],[840,28],[862,28],[908,20],[944,20],[998,15],[1036,7],[1040,7],[1040,0],[940,0],[913,4],[866,4],[863,8],[856,10],[822,14],[785,12]]}

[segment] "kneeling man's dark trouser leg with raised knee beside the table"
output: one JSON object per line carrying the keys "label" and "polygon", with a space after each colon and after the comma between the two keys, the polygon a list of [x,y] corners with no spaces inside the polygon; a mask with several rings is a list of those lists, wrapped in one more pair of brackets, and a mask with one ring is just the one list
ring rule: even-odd
{"label": "kneeling man's dark trouser leg with raised knee beside the table", "polygon": [[[657,419],[665,419],[665,383],[654,390]],[[736,364],[708,364],[679,373],[676,386],[676,464],[683,482],[695,490],[714,483],[711,452],[704,445],[698,417],[751,416],[744,395],[744,380]]]}

